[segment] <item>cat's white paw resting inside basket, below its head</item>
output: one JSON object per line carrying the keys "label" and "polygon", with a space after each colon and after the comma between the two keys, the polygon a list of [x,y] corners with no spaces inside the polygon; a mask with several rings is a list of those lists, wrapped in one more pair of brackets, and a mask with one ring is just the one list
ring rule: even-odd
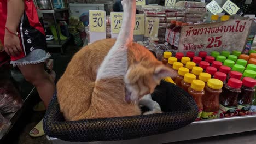
{"label": "cat's white paw resting inside basket, below its head", "polygon": [[139,105],[146,106],[150,111],[143,113],[143,115],[162,113],[160,105],[154,101],[150,94],[145,95],[139,100]]}

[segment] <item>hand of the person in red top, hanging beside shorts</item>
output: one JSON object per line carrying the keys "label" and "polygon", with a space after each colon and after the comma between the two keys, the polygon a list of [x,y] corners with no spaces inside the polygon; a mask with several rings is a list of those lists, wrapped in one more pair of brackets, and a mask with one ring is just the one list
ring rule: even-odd
{"label": "hand of the person in red top, hanging beside shorts", "polygon": [[5,29],[4,50],[10,56],[19,56],[22,52],[18,35],[11,34]]}

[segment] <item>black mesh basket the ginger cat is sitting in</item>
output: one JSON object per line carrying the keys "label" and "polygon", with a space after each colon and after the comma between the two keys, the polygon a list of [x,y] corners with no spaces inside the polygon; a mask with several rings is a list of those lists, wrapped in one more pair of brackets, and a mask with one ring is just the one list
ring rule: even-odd
{"label": "black mesh basket the ginger cat is sitting in", "polygon": [[161,81],[152,98],[164,113],[65,122],[55,93],[44,117],[44,131],[71,142],[127,140],[176,130],[197,117],[194,99],[172,83]]}

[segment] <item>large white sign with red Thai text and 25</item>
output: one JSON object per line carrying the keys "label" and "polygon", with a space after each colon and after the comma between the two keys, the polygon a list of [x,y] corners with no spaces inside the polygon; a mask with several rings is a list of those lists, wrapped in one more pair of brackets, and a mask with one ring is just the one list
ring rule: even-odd
{"label": "large white sign with red Thai text and 25", "polygon": [[178,52],[242,51],[253,19],[232,19],[225,22],[183,26],[179,38]]}

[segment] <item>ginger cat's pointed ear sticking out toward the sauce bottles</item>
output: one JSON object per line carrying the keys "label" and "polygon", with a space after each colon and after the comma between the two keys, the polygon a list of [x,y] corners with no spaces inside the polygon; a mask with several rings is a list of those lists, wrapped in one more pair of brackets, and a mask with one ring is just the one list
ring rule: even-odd
{"label": "ginger cat's pointed ear sticking out toward the sauce bottles", "polygon": [[176,76],[178,76],[177,72],[171,68],[166,67],[165,65],[160,65],[156,67],[153,74],[153,78],[158,84],[165,77],[171,77],[173,79]]}

